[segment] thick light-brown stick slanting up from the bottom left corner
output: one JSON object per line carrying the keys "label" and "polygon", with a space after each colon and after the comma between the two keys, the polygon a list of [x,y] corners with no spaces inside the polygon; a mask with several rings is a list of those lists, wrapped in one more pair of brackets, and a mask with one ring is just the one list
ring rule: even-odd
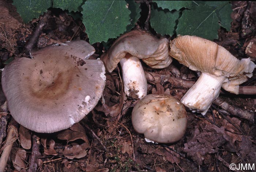
{"label": "thick light-brown stick slanting up from the bottom left corner", "polygon": [[5,144],[1,148],[1,151],[3,152],[0,158],[0,172],[4,171],[8,157],[10,156],[12,145],[14,144],[16,139],[19,137],[17,125],[18,123],[12,118],[9,129],[8,129],[7,138],[5,140]]}

